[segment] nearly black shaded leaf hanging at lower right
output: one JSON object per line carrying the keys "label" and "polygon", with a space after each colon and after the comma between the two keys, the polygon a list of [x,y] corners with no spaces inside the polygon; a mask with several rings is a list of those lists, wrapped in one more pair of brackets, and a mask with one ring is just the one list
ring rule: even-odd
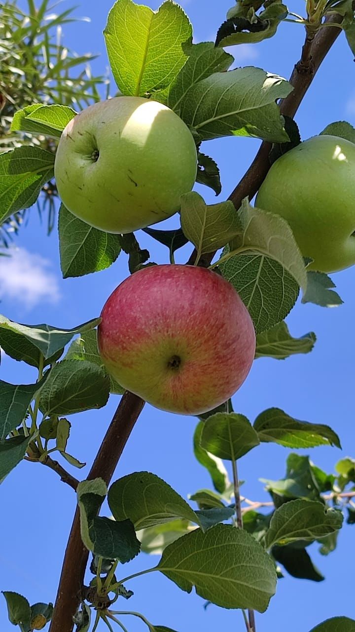
{"label": "nearly black shaded leaf hanging at lower right", "polygon": [[272,556],[282,564],[287,573],[300,580],[323,581],[324,577],[311,561],[306,549],[297,545],[272,547]]}

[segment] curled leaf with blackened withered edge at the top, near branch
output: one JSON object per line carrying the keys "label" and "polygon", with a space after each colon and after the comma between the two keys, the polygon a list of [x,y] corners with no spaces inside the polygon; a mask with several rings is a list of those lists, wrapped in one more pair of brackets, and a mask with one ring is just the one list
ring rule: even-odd
{"label": "curled leaf with blackened withered edge at the top, near branch", "polygon": [[258,16],[253,11],[252,22],[243,16],[233,16],[232,11],[229,11],[229,19],[219,27],[215,46],[262,42],[275,35],[280,21],[284,20],[287,14],[287,6],[279,3],[269,5]]}

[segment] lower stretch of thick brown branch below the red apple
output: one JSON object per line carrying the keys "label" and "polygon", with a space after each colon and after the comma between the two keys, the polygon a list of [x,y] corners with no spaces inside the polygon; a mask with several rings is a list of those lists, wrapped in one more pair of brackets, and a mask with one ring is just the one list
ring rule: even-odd
{"label": "lower stretch of thick brown branch below the red apple", "polygon": [[[143,406],[143,399],[128,391],[124,393],[93,461],[88,479],[100,477],[107,485],[109,484]],[[73,616],[81,600],[88,555],[89,552],[81,541],[80,513],[76,509],[64,556],[50,632],[73,630]]]}

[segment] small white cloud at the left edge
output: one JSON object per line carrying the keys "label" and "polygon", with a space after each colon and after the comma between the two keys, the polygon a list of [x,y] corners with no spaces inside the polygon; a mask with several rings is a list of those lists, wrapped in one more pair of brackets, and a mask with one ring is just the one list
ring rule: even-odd
{"label": "small white cloud at the left edge", "polygon": [[25,248],[9,250],[0,257],[0,299],[20,302],[27,310],[39,303],[57,303],[60,298],[57,277],[51,262]]}

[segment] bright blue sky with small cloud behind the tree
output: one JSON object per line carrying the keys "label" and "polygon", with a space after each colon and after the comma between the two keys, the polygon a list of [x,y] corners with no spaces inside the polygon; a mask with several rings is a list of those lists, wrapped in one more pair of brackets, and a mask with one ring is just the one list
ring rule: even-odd
{"label": "bright blue sky with small cloud behind the tree", "polygon": [[[76,15],[87,15],[90,23],[75,23],[64,29],[64,42],[78,53],[100,54],[93,63],[97,72],[107,67],[102,29],[111,0],[86,0]],[[152,8],[157,1],[147,2]],[[195,41],[214,39],[232,0],[186,0],[183,6],[190,15]],[[71,6],[65,0],[63,8]],[[298,13],[303,3],[292,4]],[[272,40],[252,46],[229,49],[237,66],[255,65],[286,78],[299,58],[303,44],[303,28],[284,24]],[[355,124],[355,88],[352,81],[354,62],[344,35],[340,36],[316,76],[296,116],[303,139],[319,133],[328,123],[348,120]],[[205,143],[205,152],[218,162],[224,199],[249,166],[258,147],[251,138],[226,138]],[[317,177],[317,174],[315,174]],[[207,202],[216,198],[208,188],[198,190]],[[311,209],[310,209],[311,212]],[[165,222],[178,226],[178,217]],[[162,226],[163,228],[163,226]],[[167,250],[144,233],[137,233],[142,246],[150,249],[152,260],[167,262]],[[27,226],[15,240],[18,250],[13,258],[2,258],[0,265],[1,312],[8,318],[35,324],[47,322],[59,327],[74,327],[99,315],[106,298],[128,274],[126,255],[103,272],[81,279],[61,279],[56,231],[45,235],[37,210],[28,214]],[[185,246],[178,252],[184,262],[190,253]],[[301,336],[315,331],[317,343],[310,355],[294,356],[286,361],[256,360],[248,380],[234,396],[234,410],[251,421],[270,406],[283,408],[290,415],[309,422],[327,423],[340,435],[342,453],[330,447],[310,451],[313,461],[332,471],[341,456],[354,456],[353,384],[355,341],[352,335],[355,296],[355,269],[333,276],[344,305],[322,309],[298,303],[287,319],[291,333]],[[13,383],[30,382],[33,371],[6,356],[0,367],[0,379]],[[111,396],[104,410],[71,417],[69,451],[88,463],[79,476],[85,478],[105,429],[117,406]],[[207,472],[196,463],[192,452],[195,418],[170,415],[146,406],[136,424],[128,446],[116,471],[115,479],[131,471],[149,470],[164,478],[181,495],[202,487],[210,487]],[[263,444],[239,462],[239,475],[246,481],[244,494],[253,500],[267,500],[258,478],[280,478],[284,475],[289,451],[280,446]],[[308,451],[299,451],[307,454]],[[76,472],[74,472],[77,475]],[[0,550],[1,590],[14,590],[31,603],[54,601],[64,547],[75,510],[75,495],[57,475],[40,465],[23,462],[1,487],[3,520]],[[277,595],[268,611],[257,616],[258,632],[308,632],[323,619],[344,614],[353,616],[353,571],[349,552],[353,550],[355,527],[346,526],[340,533],[336,552],[329,557],[310,549],[316,565],[326,576],[322,583],[301,581],[286,576],[279,581]],[[157,563],[157,557],[144,554],[122,569],[126,576]],[[173,583],[153,573],[129,583],[135,595],[119,607],[145,614],[152,623],[165,624],[179,632],[218,628],[243,631],[239,611],[227,611],[211,605],[203,610],[203,600],[195,593],[181,592]],[[0,600],[0,628],[10,632],[4,600]],[[143,623],[126,618],[129,632],[140,632]],[[105,629],[99,626],[99,630]],[[118,628],[117,628],[118,629]]]}

